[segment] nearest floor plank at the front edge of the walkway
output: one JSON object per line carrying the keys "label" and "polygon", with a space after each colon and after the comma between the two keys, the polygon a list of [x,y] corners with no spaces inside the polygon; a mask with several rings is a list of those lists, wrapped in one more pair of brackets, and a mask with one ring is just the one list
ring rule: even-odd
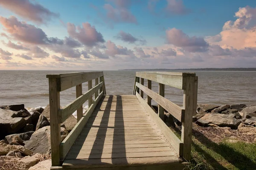
{"label": "nearest floor plank at the front edge of the walkway", "polygon": [[[115,164],[113,164],[113,161]],[[118,159],[67,159],[63,163],[63,167],[67,168],[81,168],[81,167],[111,167],[113,166],[118,167],[119,170],[123,170],[124,167],[120,167],[120,165],[124,166],[124,164],[127,164],[128,166],[131,166],[131,169],[136,169],[135,165],[147,165],[150,166],[150,164],[156,164],[157,167],[152,168],[151,170],[177,170],[176,168],[173,168],[173,165],[169,165],[169,168],[162,169],[160,167],[160,164],[168,164],[168,163],[178,163],[179,164],[179,158],[177,156],[158,156],[158,157],[142,157],[142,158],[118,158]],[[183,165],[183,168],[185,166]],[[129,170],[131,170],[129,169]],[[149,170],[143,167],[137,168],[137,170]],[[182,170],[182,169],[180,169]]]}

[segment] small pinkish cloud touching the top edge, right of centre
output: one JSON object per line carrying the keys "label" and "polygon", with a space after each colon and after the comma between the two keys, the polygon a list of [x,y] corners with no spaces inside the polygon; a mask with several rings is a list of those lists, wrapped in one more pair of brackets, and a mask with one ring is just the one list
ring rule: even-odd
{"label": "small pinkish cloud touching the top edge, right of centre", "polygon": [[184,15],[191,12],[190,9],[186,8],[183,5],[182,0],[166,0],[167,6],[165,8],[167,14],[176,14],[176,15]]}

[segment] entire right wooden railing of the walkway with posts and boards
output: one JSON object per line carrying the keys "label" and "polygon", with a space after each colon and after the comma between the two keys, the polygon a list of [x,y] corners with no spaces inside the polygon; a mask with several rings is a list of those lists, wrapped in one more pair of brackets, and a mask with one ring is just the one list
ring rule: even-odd
{"label": "entire right wooden railing of the walkway with posts and boards", "polygon": [[[144,79],[148,79],[148,87],[144,86]],[[151,81],[159,83],[158,94],[151,90]],[[165,85],[183,90],[183,108],[164,97]],[[151,117],[160,127],[175,151],[186,160],[190,159],[191,153],[192,116],[196,113],[197,108],[197,90],[198,77],[195,76],[195,73],[136,72],[133,94],[137,96],[140,103],[151,114]],[[143,99],[144,93],[147,94],[146,101]],[[151,99],[158,103],[159,116],[151,109]],[[162,121],[164,119],[164,110],[182,122],[181,140]]]}

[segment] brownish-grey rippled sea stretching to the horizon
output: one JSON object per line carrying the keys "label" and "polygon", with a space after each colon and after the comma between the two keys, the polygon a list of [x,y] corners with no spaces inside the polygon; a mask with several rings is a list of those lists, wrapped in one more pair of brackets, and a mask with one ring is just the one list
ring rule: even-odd
{"label": "brownish-grey rippled sea stretching to the horizon", "polygon": [[[46,75],[67,72],[76,71],[0,71],[0,105],[24,104],[28,110],[44,108],[49,104]],[[256,105],[256,71],[192,72],[198,76],[198,104]],[[136,71],[104,71],[107,94],[131,95],[135,73]],[[144,85],[147,85],[147,81]],[[82,88],[85,93],[88,90],[87,83],[83,83]],[[158,83],[152,82],[152,90],[158,92]],[[165,97],[177,105],[183,104],[183,91],[180,89],[165,86]],[[76,99],[76,87],[61,91],[60,99],[61,106],[72,102]],[[156,104],[154,101],[152,103]],[[83,107],[86,110],[88,103],[85,102]]]}

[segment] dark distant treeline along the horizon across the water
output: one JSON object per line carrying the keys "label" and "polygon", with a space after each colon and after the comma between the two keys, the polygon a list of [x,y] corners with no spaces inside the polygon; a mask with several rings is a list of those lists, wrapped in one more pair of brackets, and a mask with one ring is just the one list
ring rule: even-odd
{"label": "dark distant treeline along the horizon across the water", "polygon": [[256,68],[179,68],[179,69],[123,69],[123,70],[136,70],[136,71],[256,71]]}

